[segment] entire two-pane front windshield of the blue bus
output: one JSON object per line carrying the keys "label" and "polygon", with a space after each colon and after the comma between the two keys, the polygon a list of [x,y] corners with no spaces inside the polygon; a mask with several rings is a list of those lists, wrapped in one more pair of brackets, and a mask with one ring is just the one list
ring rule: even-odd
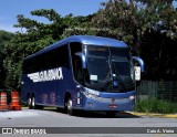
{"label": "entire two-pane front windshield of the blue bus", "polygon": [[87,78],[85,80],[86,84],[93,88],[107,92],[126,92],[129,89],[127,83],[133,88],[131,57],[127,48],[87,45],[86,62]]}

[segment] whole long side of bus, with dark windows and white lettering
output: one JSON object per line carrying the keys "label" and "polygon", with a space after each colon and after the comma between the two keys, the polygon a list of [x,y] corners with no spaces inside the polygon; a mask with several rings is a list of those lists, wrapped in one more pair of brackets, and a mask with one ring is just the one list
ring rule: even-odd
{"label": "whole long side of bus, with dark windows and white lettering", "polygon": [[64,107],[65,93],[72,95],[75,87],[69,53],[67,45],[63,45],[25,63],[22,102],[27,103],[30,96],[34,96],[37,105]]}

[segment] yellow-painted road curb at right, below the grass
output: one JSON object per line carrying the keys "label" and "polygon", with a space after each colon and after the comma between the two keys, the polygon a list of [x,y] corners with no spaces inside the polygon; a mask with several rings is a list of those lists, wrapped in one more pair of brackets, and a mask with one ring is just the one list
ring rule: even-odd
{"label": "yellow-painted road curb at right, below the grass", "polygon": [[136,116],[177,118],[177,114],[152,114],[152,113],[137,113],[137,112],[128,112],[128,113]]}

